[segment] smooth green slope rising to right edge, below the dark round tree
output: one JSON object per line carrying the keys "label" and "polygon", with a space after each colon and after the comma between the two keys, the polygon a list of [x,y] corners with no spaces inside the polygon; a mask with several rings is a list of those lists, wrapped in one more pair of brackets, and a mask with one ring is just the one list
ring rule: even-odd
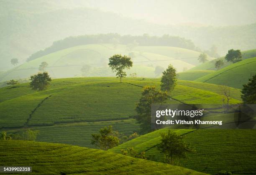
{"label": "smooth green slope rising to right edge, below the dark round tree", "polygon": [[231,64],[212,74],[203,76],[195,81],[226,85],[241,89],[248,79],[256,74],[256,57]]}

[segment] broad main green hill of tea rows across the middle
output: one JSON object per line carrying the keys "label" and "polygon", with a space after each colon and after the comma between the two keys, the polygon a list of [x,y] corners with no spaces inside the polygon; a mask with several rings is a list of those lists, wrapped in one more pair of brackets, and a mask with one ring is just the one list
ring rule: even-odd
{"label": "broad main green hill of tea rows across the middle", "polygon": [[[189,83],[191,82],[191,83]],[[126,136],[138,132],[135,107],[143,86],[159,88],[159,79],[116,78],[54,79],[48,90],[31,90],[28,83],[0,89],[0,130],[38,131],[37,141],[94,147],[91,134],[113,125]],[[230,104],[240,103],[232,90]],[[99,93],[100,92],[100,93]],[[168,103],[222,104],[217,85],[178,81]],[[78,134],[79,133],[79,134]]]}

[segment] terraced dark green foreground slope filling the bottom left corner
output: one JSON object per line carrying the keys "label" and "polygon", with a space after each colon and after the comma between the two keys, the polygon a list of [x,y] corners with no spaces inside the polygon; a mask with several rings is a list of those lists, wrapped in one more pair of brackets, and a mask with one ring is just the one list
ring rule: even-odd
{"label": "terraced dark green foreground slope filling the bottom left corner", "polygon": [[[29,149],[28,149],[29,148]],[[0,166],[31,166],[39,174],[202,174],[113,152],[63,144],[1,141]]]}

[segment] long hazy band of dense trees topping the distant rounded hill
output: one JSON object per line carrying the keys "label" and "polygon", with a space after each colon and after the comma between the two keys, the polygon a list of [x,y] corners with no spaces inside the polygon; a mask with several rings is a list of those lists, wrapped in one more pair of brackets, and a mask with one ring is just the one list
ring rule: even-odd
{"label": "long hazy band of dense trees topping the distant rounded hill", "polygon": [[158,36],[149,36],[148,34],[144,34],[142,36],[131,36],[124,35],[121,36],[117,33],[109,33],[109,34],[98,34],[98,35],[84,35],[84,36],[71,36],[65,38],[63,40],[55,41],[52,46],[37,51],[33,53],[31,56],[27,58],[27,61],[31,61],[38,57],[47,55],[49,53],[53,53],[55,51],[59,51],[64,48],[84,45],[84,44],[99,44],[99,43],[113,43],[113,44],[131,44],[138,43],[140,46],[173,46],[180,48],[187,48],[191,50],[195,50],[195,44],[191,40],[187,40],[185,38],[181,38],[178,36],[169,36],[163,35],[161,37]]}

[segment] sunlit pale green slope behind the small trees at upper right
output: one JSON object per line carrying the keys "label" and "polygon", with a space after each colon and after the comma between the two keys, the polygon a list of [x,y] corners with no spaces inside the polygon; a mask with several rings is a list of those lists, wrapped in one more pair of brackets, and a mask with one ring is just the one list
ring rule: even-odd
{"label": "sunlit pale green slope behind the small trees at upper right", "polygon": [[[242,51],[241,53],[242,53],[242,59],[256,57],[256,49],[249,50],[249,51]],[[222,68],[232,64],[230,62],[227,62],[224,57],[221,57],[220,59],[224,61],[224,65],[222,66]],[[212,61],[208,61],[206,63],[200,64],[198,66],[195,66],[195,67],[189,69],[189,71],[216,70],[216,68],[214,66],[215,61],[216,60],[212,60]]]}

